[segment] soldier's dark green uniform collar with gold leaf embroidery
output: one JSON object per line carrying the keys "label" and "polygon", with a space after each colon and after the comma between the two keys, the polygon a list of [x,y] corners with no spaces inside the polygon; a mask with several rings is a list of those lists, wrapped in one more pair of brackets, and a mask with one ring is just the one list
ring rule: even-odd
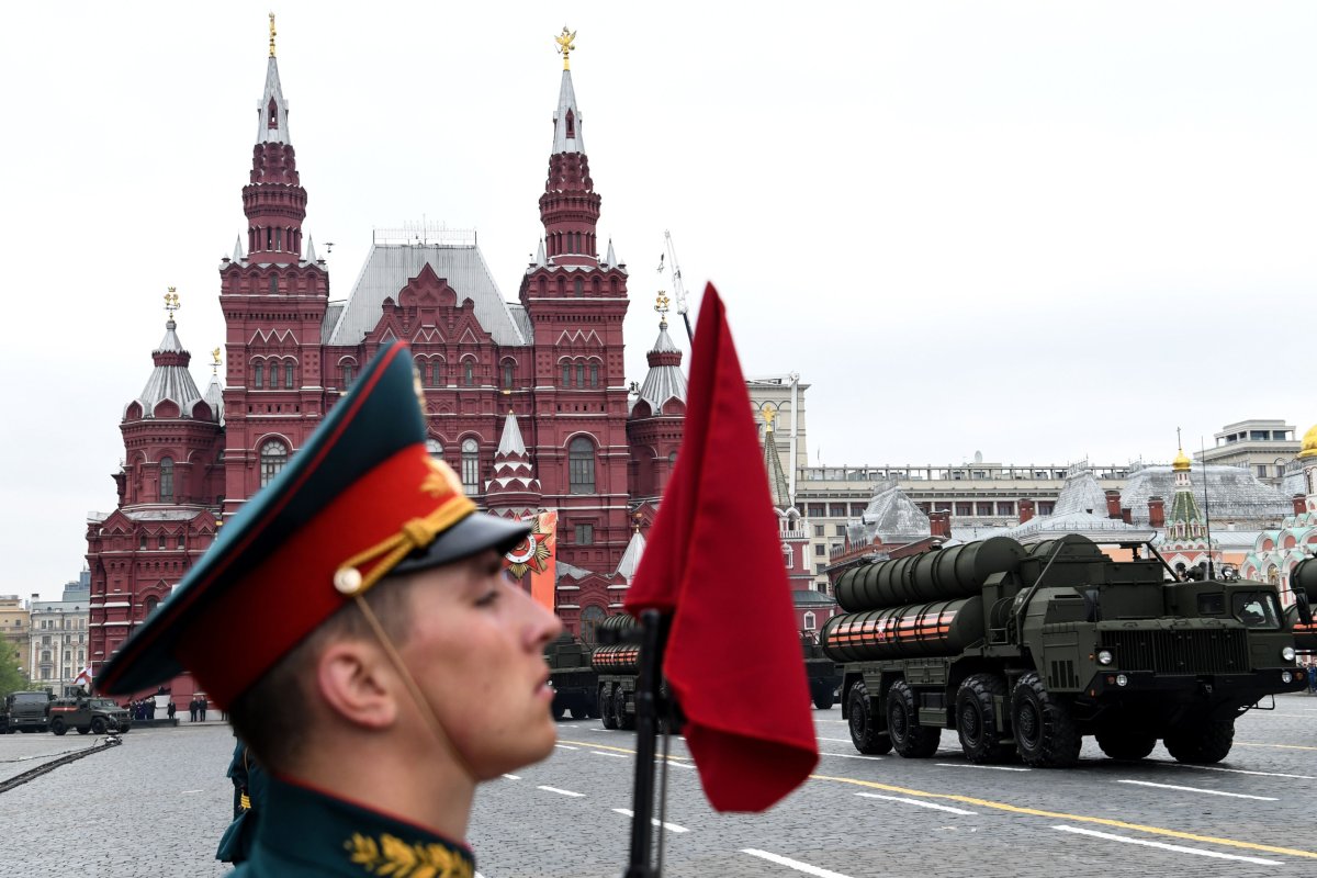
{"label": "soldier's dark green uniform collar with gold leaf embroidery", "polygon": [[232,878],[473,878],[470,849],[398,817],[270,777],[252,857]]}

